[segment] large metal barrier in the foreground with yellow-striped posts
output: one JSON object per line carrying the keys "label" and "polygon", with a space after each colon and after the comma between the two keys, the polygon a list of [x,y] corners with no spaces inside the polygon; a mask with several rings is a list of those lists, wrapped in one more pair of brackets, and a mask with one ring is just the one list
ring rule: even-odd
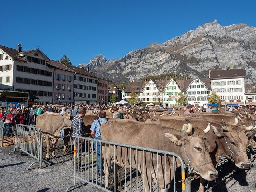
{"label": "large metal barrier in the foreground with yellow-striped posts", "polygon": [[[109,179],[105,177],[104,173],[98,173],[97,154],[93,152],[92,154],[90,154],[90,141],[97,143],[100,142],[102,150],[104,150],[102,151],[102,154],[100,154],[100,158],[104,156],[104,159],[106,159],[108,162],[111,161],[111,152],[109,154],[106,154],[106,146],[110,146],[113,154],[116,154],[116,156],[113,156],[114,162],[118,161],[123,163],[122,167],[120,165],[112,165],[111,168],[110,164],[106,163],[106,160],[102,160],[99,162],[101,166],[103,165],[106,169],[109,170]],[[97,151],[97,147],[95,151]],[[120,152],[124,153],[121,155]],[[121,156],[122,159],[120,159]],[[155,164],[152,164],[153,158]],[[79,159],[81,161],[82,167],[78,166],[80,164],[80,162],[78,161]],[[140,161],[140,164],[138,163],[138,160]],[[168,191],[169,188],[173,188],[173,190],[171,191],[174,192],[191,192],[190,179],[185,178],[184,161],[178,154],[173,152],[119,144],[103,140],[96,140],[92,138],[76,137],[74,140],[73,163],[74,184],[70,185],[66,189],[66,192],[68,192],[70,188],[75,188],[75,186],[78,185],[85,186],[82,182],[96,186],[97,188],[102,189],[104,191],[119,190],[120,192],[144,192],[144,184],[147,181],[150,182],[149,186],[152,186],[152,188],[150,188],[150,192],[160,191],[160,181],[164,182],[165,191]],[[179,169],[177,169],[175,173],[173,170],[176,169],[177,163],[180,163],[181,165],[181,172],[179,172]],[[133,168],[135,166],[136,169],[132,169],[130,164],[133,164]],[[141,173],[138,171],[139,167],[142,170]],[[151,172],[152,170],[154,170],[154,172],[156,173],[155,177],[153,178],[155,182],[152,181],[152,174],[150,174],[150,178],[146,180],[147,175],[145,174],[144,171]],[[171,172],[166,172],[168,170],[171,170]],[[117,172],[117,175],[113,174],[114,172]],[[170,175],[173,175],[173,180],[170,183],[169,187],[168,185],[166,185],[166,176],[170,177]],[[81,180],[82,182],[77,182],[77,180]],[[114,184],[112,185],[110,183],[111,180],[114,181]],[[106,187],[106,182],[108,183],[108,186],[111,186],[110,188]]]}

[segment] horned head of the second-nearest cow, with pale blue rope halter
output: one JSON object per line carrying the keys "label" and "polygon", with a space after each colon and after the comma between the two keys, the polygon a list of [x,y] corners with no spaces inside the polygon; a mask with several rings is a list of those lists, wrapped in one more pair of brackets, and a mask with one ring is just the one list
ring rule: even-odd
{"label": "horned head of the second-nearest cow, with pale blue rope halter", "polygon": [[212,126],[216,137],[222,138],[221,148],[226,156],[232,159],[241,169],[250,168],[250,161],[246,153],[248,138],[246,132],[255,127],[255,121],[251,126],[226,125],[222,119],[222,129]]}

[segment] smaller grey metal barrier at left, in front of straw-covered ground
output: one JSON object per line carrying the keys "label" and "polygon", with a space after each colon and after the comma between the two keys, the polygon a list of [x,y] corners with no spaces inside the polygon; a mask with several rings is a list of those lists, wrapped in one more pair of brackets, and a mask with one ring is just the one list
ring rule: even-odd
{"label": "smaller grey metal barrier at left, in front of straw-covered ground", "polygon": [[37,160],[36,162],[33,162],[26,170],[28,170],[35,163],[39,163],[39,168],[42,169],[43,138],[41,136],[40,128],[17,124],[15,130],[14,151],[12,152],[19,152],[16,151],[16,149],[25,152]]}

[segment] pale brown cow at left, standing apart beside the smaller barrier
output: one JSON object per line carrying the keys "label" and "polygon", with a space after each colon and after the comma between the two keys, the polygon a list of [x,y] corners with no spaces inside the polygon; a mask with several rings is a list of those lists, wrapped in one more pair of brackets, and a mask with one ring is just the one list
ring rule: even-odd
{"label": "pale brown cow at left, standing apart beside the smaller barrier", "polygon": [[[60,131],[72,127],[72,115],[65,113],[60,115],[59,113],[44,113],[37,116],[36,127],[41,129],[42,136],[46,138],[46,160],[50,158],[50,141],[52,142],[52,156],[55,157],[55,146],[60,137]],[[64,138],[64,151],[68,139]]]}

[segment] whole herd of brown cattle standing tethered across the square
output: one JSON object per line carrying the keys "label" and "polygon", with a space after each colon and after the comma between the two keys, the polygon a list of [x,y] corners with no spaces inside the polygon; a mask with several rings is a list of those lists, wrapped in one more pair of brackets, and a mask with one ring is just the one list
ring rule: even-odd
{"label": "whole herd of brown cattle standing tethered across the square", "polygon": [[[166,110],[144,109],[119,110],[124,119],[112,118],[113,113],[106,111],[108,121],[101,126],[102,140],[153,148],[158,150],[170,151],[179,154],[186,164],[189,164],[190,171],[200,175],[199,191],[204,191],[204,180],[212,181],[218,177],[216,164],[220,163],[219,157],[229,158],[240,169],[249,169],[251,162],[248,159],[246,148],[256,148],[255,142],[255,111],[232,111],[232,112],[196,112],[184,114],[184,111],[174,110],[168,114]],[[90,136],[90,126],[97,119],[97,111],[86,111],[83,117],[86,129],[85,134]],[[60,131],[65,130],[66,134],[72,132],[72,115],[66,113],[63,116],[54,113],[45,113],[38,116],[36,127],[41,128],[42,135],[46,139],[47,150],[50,152],[50,141],[54,147],[60,136]],[[71,130],[70,130],[71,128]],[[70,138],[64,137],[64,144],[68,144]],[[91,145],[92,146],[92,145]],[[66,149],[64,149],[66,150]],[[90,149],[92,150],[92,149]],[[138,171],[146,175],[144,180],[145,191],[150,191],[151,181],[159,183],[159,187],[164,191],[166,185],[172,182],[176,168],[180,162],[175,160],[173,169],[173,159],[170,157],[170,166],[162,167],[161,160],[157,161],[155,154],[138,154],[137,161],[127,158],[126,165],[124,160],[119,159],[119,153],[127,153],[125,150],[114,150],[106,146],[102,149],[104,156],[111,156],[115,166],[126,168],[138,168]],[[135,154],[136,152],[133,151]],[[138,153],[138,152],[137,152]],[[145,155],[145,162],[141,162],[142,155]],[[46,159],[49,155],[46,155]],[[110,159],[104,159],[106,167],[106,187],[109,187],[109,166]],[[128,162],[128,163],[127,163]],[[157,165],[158,162],[158,165]],[[143,166],[146,166],[142,170]],[[149,168],[151,166],[152,168]],[[156,170],[158,167],[158,170]],[[164,169],[164,170],[161,170]],[[116,176],[117,176],[117,168]],[[151,172],[150,172],[151,171]],[[165,172],[166,174],[159,174]],[[158,179],[158,180],[157,180]],[[113,181],[114,182],[114,181]],[[118,182],[118,180],[116,180]]]}

